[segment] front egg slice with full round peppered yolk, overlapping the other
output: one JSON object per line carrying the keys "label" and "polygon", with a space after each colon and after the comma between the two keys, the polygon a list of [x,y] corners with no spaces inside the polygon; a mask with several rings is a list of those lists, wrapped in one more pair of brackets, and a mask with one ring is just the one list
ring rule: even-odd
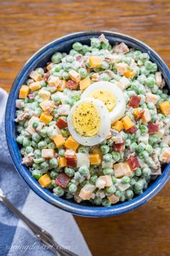
{"label": "front egg slice with full round peppered yolk, overlapping the other", "polygon": [[110,125],[107,106],[96,98],[82,98],[68,114],[68,130],[81,145],[101,143],[109,134]]}

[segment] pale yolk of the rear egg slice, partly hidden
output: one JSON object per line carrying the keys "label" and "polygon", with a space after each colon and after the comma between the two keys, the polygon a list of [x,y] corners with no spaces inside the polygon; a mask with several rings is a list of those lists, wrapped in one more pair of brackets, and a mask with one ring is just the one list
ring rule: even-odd
{"label": "pale yolk of the rear egg slice, partly hidden", "polygon": [[99,89],[95,90],[89,97],[96,98],[99,101],[102,101],[107,107],[108,111],[112,111],[115,108],[115,95],[113,95],[109,90]]}

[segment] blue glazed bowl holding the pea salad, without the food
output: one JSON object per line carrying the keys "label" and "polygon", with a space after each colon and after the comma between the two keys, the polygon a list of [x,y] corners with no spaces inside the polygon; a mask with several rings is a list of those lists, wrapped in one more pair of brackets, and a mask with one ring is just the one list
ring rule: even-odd
{"label": "blue glazed bowl holding the pea salad, without the food", "polygon": [[164,168],[163,174],[159,176],[150,186],[143,192],[142,195],[136,196],[133,200],[128,202],[120,202],[117,205],[112,205],[109,207],[98,207],[91,206],[89,202],[82,202],[77,204],[73,200],[65,200],[60,197],[56,197],[48,189],[43,189],[40,187],[40,184],[35,180],[30,171],[26,166],[22,165],[22,156],[19,153],[19,147],[16,142],[16,125],[14,123],[15,116],[15,101],[17,100],[19,88],[27,80],[32,69],[36,67],[44,67],[45,64],[49,61],[50,56],[55,51],[68,52],[71,49],[71,46],[74,42],[79,41],[81,43],[89,44],[89,39],[93,36],[99,36],[101,33],[109,39],[111,44],[115,42],[125,42],[128,46],[134,47],[140,51],[147,52],[151,56],[151,60],[158,64],[158,69],[161,70],[164,80],[166,80],[166,85],[170,89],[170,73],[169,69],[155,51],[152,48],[147,46],[145,43],[142,43],[140,40],[131,38],[128,35],[122,35],[120,33],[113,33],[111,31],[86,31],[80,33],[73,33],[66,35],[62,38],[58,38],[48,45],[41,48],[37,51],[22,67],[21,71],[17,75],[17,78],[14,80],[12,85],[12,90],[9,93],[9,98],[6,106],[6,117],[5,117],[5,129],[6,129],[6,140],[9,147],[9,153],[12,157],[15,168],[18,173],[22,176],[25,182],[29,187],[42,199],[50,204],[57,206],[63,210],[66,210],[70,213],[73,213],[78,216],[86,217],[107,217],[107,216],[116,216],[122,213],[127,213],[130,210],[138,208],[140,205],[148,202],[152,197],[154,197],[162,187],[169,180],[170,176],[170,163]]}

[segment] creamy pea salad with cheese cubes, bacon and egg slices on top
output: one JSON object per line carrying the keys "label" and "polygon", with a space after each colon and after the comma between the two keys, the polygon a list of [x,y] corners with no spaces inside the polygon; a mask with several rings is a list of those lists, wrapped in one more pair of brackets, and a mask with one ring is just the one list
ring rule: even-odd
{"label": "creamy pea salad with cheese cubes, bacon and egg slices on top", "polygon": [[147,53],[103,34],[32,70],[16,107],[22,164],[56,197],[131,200],[170,162],[164,77]]}

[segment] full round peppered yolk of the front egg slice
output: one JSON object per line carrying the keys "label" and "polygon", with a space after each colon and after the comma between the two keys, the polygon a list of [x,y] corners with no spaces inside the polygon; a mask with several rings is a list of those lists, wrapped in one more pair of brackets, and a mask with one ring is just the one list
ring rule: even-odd
{"label": "full round peppered yolk of the front egg slice", "polygon": [[93,137],[97,135],[100,116],[94,103],[81,103],[76,107],[72,116],[73,127],[79,135]]}

